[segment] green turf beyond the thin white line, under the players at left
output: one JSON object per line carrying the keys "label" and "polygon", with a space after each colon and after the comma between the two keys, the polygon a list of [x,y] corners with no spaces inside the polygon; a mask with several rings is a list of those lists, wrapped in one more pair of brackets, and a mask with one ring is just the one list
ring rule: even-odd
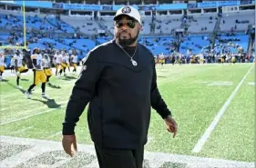
{"label": "green turf beyond the thin white line, under the players at left", "polygon": [[[20,81],[20,85],[23,86],[24,90],[27,90],[29,85],[33,82],[33,76],[23,76],[23,79],[26,79],[26,81]],[[60,85],[61,89],[54,89],[46,86],[46,93],[52,94],[51,96],[56,99],[56,104],[67,103],[67,97],[71,92],[72,85],[74,84],[75,80],[73,79],[70,81],[66,79],[66,77],[61,76],[59,78],[52,77],[50,80],[52,84]],[[40,84],[35,87],[35,92],[33,92],[32,97],[33,100],[27,100],[25,94],[23,94],[24,91],[22,92],[21,90],[15,88],[15,77],[10,77],[7,80],[8,82],[0,83],[1,123],[3,123],[3,121],[24,117],[28,114],[35,114],[48,109],[46,100],[41,98]]]}

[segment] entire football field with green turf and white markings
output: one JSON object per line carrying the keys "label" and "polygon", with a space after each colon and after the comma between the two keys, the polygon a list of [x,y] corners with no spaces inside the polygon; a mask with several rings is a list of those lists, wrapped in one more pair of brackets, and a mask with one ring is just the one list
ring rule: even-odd
{"label": "entire football field with green turf and white markings", "polygon": [[[179,130],[166,130],[154,110],[145,167],[254,167],[255,69],[253,64],[157,65],[159,91]],[[87,109],[76,127],[78,153],[62,151],[65,108],[77,74],[55,77],[46,86],[54,101],[41,98],[40,84],[26,99],[15,75],[0,82],[0,165],[4,167],[97,167],[87,128]],[[32,74],[22,75],[27,89]],[[124,88],[125,89],[125,88]],[[124,95],[125,96],[125,95]]]}

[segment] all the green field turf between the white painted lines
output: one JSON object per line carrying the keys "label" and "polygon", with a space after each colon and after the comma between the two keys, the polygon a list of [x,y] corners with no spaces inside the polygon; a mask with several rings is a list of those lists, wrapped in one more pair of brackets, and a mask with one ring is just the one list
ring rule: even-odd
{"label": "all the green field turf between the white painted lines", "polygon": [[[220,126],[218,124],[216,130],[210,135],[210,139],[202,148],[202,152],[197,154],[191,152],[200,136],[205,132],[221,106],[227,101],[250,67],[251,64],[158,65],[159,90],[179,124],[179,133],[173,139],[172,135],[166,131],[165,124],[159,114],[153,110],[148,133],[150,141],[146,150],[237,161],[254,161],[252,157],[254,153],[254,147],[252,146],[252,143],[254,143],[252,136],[254,133],[252,127],[254,125],[252,120],[254,108],[253,104],[245,101],[248,98],[251,102],[254,101],[253,86],[247,84],[254,81],[251,79],[251,75],[242,85],[241,90],[235,96],[223,118],[220,119]],[[31,84],[32,77],[27,76],[25,78],[29,78],[30,81],[23,82],[22,85],[28,87]],[[15,78],[10,78],[9,82],[15,84]],[[47,87],[47,94],[55,98],[56,104],[67,101],[73,86],[72,83],[75,80],[67,83],[63,79],[53,78],[52,82],[61,85],[63,88],[49,90]],[[231,82],[232,85],[210,85],[212,82]],[[41,100],[39,86],[37,86],[33,97]],[[244,105],[240,106],[241,104]],[[61,123],[64,119],[65,105],[62,104],[63,109],[53,109],[47,114],[40,114],[26,120],[1,125],[0,134],[60,141],[61,133],[59,132],[62,128]],[[2,108],[5,110],[1,111],[1,123],[49,109],[46,104],[40,101],[27,100],[24,94],[6,83],[1,83]],[[243,114],[246,112],[247,114]],[[238,128],[239,125],[241,125],[240,128]],[[225,130],[221,129],[223,126],[225,126]],[[28,127],[30,129],[26,129]],[[22,131],[23,129],[26,129],[26,131]],[[16,132],[18,130],[21,131]],[[229,138],[225,136],[227,132],[229,132]],[[59,134],[52,136],[55,133]],[[87,131],[86,112],[80,117],[76,133],[78,143],[91,143]],[[229,143],[226,141],[227,139],[229,139]],[[245,145],[242,146],[242,144]],[[223,146],[226,148],[223,148]],[[230,150],[230,148],[232,149]]]}

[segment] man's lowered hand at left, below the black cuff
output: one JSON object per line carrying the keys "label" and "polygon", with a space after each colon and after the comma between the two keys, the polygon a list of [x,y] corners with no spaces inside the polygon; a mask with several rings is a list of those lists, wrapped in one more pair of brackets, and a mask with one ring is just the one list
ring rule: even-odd
{"label": "man's lowered hand at left, below the black cuff", "polygon": [[64,151],[73,157],[74,153],[77,152],[77,139],[76,135],[63,135],[62,146]]}

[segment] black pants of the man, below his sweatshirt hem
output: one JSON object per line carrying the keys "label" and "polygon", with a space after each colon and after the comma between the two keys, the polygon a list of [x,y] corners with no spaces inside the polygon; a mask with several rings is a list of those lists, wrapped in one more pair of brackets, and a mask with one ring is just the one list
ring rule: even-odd
{"label": "black pants of the man, below his sweatshirt hem", "polygon": [[142,168],[144,146],[136,150],[102,149],[95,145],[100,168]]}

